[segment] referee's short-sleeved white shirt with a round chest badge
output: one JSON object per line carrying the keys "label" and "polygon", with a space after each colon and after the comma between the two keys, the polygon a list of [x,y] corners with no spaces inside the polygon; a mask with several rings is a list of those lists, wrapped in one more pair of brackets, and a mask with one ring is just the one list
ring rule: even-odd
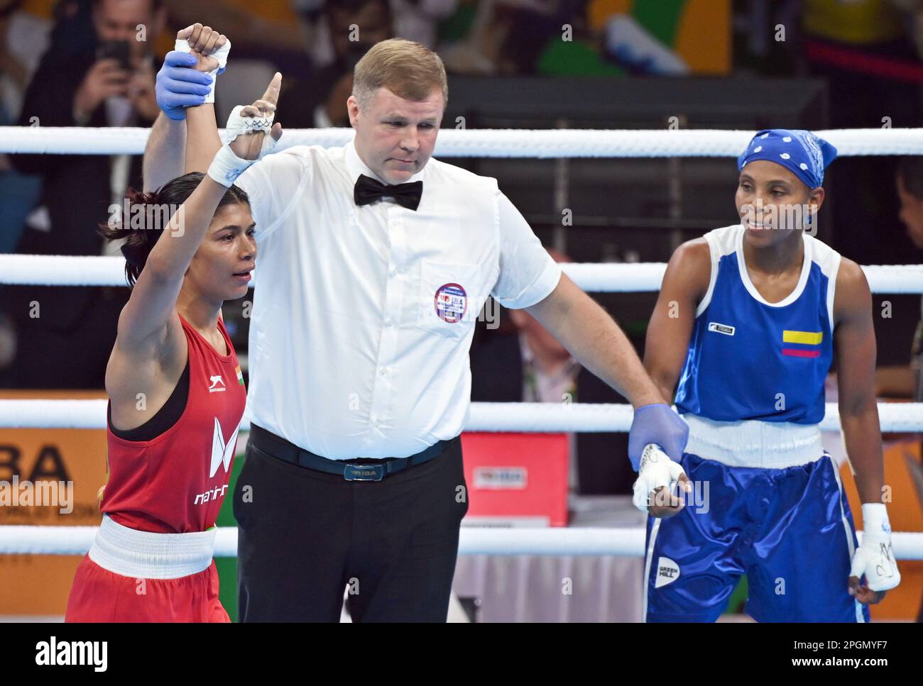
{"label": "referee's short-sleeved white shirt with a round chest badge", "polygon": [[331,459],[405,457],[462,432],[488,295],[539,302],[560,267],[497,180],[430,158],[414,211],[356,207],[342,148],[297,146],[237,185],[257,222],[246,417]]}

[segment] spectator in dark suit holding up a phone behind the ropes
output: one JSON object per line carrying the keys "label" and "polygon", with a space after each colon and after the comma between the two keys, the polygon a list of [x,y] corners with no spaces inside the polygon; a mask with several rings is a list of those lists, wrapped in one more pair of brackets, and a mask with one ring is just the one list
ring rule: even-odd
{"label": "spectator in dark suit holding up a phone behind the ropes", "polygon": [[[77,2],[65,11],[26,93],[19,124],[150,126],[154,95],[150,45],[165,23],[162,0],[93,0],[93,30],[79,47],[61,25],[79,21]],[[73,11],[69,13],[67,8]],[[143,30],[138,30],[143,25]],[[71,24],[71,26],[74,26]],[[141,187],[140,156],[15,155],[19,171],[42,176],[42,207],[30,214],[20,254],[98,255],[100,222],[121,207],[129,185]],[[102,388],[125,289],[17,287],[7,312],[17,326],[12,384],[24,388]]]}

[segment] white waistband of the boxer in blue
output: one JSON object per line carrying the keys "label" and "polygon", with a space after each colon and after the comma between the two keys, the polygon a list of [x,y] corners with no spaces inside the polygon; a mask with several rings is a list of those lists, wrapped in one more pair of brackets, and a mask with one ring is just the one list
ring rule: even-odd
{"label": "white waistband of the boxer in blue", "polygon": [[807,465],[823,456],[817,424],[791,421],[715,421],[683,415],[689,424],[686,452],[728,467],[781,469]]}

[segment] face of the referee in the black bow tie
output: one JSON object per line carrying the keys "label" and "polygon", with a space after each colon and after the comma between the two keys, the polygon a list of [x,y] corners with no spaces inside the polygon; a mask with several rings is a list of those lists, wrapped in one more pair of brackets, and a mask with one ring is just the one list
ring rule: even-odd
{"label": "face of the referee in the black bow tie", "polygon": [[354,96],[346,101],[355,129],[355,150],[385,183],[404,183],[426,166],[442,122],[442,91],[425,101],[408,101],[378,89],[366,107]]}

